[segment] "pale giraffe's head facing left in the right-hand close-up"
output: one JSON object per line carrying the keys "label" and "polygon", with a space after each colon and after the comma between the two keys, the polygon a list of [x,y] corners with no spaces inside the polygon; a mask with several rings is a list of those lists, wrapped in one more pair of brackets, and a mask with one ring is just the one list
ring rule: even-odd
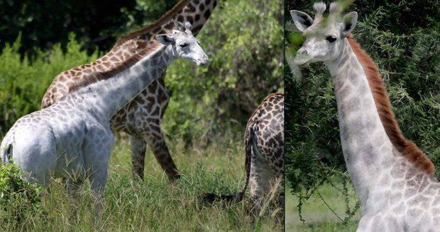
{"label": "pale giraffe's head facing left in the right-hand close-up", "polygon": [[302,11],[290,11],[293,22],[305,38],[304,44],[297,51],[295,63],[298,65],[312,62],[331,62],[341,56],[346,36],[354,29],[358,13],[347,13],[341,18],[341,6],[331,3],[329,16],[322,13],[326,4],[319,2],[313,6],[312,19]]}

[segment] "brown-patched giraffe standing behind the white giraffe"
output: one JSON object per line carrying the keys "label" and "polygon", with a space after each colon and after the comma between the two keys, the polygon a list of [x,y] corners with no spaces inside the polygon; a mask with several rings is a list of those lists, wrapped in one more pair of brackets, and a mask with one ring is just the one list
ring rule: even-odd
{"label": "brown-patched giraffe standing behind the white giraffe", "polygon": [[[145,28],[122,36],[111,51],[90,64],[77,66],[58,74],[43,96],[41,108],[60,100],[72,93],[78,86],[87,86],[96,76],[109,76],[125,66],[136,62],[133,57],[145,54],[150,47],[155,47],[155,35],[170,33],[175,30],[172,19],[192,23],[192,33],[197,35],[206,23],[219,0],[181,0],[162,18]],[[165,137],[160,127],[170,95],[165,87],[164,75],[153,81],[136,98],[125,105],[111,118],[114,132],[126,132],[130,136],[133,175],[143,179],[145,150],[147,144],[165,170],[170,181],[180,178]]]}

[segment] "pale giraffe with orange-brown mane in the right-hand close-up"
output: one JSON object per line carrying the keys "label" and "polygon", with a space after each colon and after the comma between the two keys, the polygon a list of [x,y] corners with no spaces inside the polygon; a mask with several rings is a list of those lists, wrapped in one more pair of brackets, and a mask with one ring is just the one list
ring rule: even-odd
{"label": "pale giraffe with orange-brown mane in the right-hand close-up", "polygon": [[429,158],[406,139],[395,120],[378,67],[353,39],[358,14],[314,4],[314,19],[290,11],[305,42],[299,65],[324,62],[338,106],[343,157],[361,200],[357,231],[438,231],[440,183]]}

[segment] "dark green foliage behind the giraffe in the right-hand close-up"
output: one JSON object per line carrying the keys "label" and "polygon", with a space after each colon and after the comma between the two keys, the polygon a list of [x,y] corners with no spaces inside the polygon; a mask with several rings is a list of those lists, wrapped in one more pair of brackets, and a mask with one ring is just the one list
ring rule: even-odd
{"label": "dark green foliage behind the giraffe in the right-hand close-up", "polygon": [[[286,1],[289,10],[313,16],[316,1]],[[440,27],[436,1],[356,1],[353,36],[378,64],[403,134],[440,167]],[[286,59],[302,42],[285,31]],[[292,73],[295,71],[295,74]],[[286,65],[286,173],[292,193],[307,199],[329,177],[346,176],[339,139],[336,100],[323,64],[290,70]],[[439,174],[439,172],[437,172]]]}

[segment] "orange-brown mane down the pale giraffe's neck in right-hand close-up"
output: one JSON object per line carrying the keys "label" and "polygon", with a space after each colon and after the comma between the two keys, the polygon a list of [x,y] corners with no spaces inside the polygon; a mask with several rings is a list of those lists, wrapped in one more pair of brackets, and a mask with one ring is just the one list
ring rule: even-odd
{"label": "orange-brown mane down the pale giraffe's neck in right-hand close-up", "polygon": [[351,35],[348,35],[348,43],[361,63],[365,76],[367,76],[380,120],[382,121],[383,127],[385,127],[385,132],[390,138],[391,143],[409,162],[413,163],[416,168],[429,175],[434,175],[435,167],[431,160],[429,160],[416,144],[406,139],[402,131],[400,131],[395,115],[392,112],[390,99],[383,84],[383,79],[380,77],[378,66],[376,66],[370,56],[361,49],[361,46]]}

